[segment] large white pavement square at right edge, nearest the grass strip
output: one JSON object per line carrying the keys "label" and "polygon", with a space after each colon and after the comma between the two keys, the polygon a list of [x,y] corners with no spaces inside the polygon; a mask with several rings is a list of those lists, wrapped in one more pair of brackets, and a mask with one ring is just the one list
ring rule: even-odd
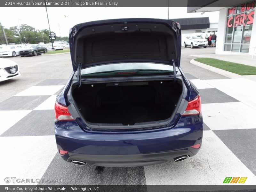
{"label": "large white pavement square at right edge, nearest the grass strip", "polygon": [[256,82],[243,78],[202,81],[256,109]]}

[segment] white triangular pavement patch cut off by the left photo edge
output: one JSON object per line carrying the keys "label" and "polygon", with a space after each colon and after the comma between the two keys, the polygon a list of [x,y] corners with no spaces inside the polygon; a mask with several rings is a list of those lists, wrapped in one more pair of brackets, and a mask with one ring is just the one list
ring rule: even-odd
{"label": "white triangular pavement patch cut off by the left photo edge", "polygon": [[0,111],[0,135],[30,112],[31,110]]}

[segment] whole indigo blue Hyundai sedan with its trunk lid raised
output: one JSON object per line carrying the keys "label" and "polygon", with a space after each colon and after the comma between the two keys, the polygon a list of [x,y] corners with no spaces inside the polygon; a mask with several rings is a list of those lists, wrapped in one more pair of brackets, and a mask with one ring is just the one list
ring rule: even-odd
{"label": "whole indigo blue Hyundai sedan with its trunk lid raised", "polygon": [[197,88],[180,68],[180,25],[116,19],[70,29],[73,72],[55,103],[61,157],[131,167],[182,161],[201,148]]}

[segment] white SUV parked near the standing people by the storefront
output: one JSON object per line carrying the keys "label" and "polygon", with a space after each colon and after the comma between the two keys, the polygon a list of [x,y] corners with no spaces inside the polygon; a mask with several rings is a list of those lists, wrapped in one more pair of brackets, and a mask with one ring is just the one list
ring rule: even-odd
{"label": "white SUV parked near the standing people by the storefront", "polygon": [[201,35],[188,35],[184,41],[184,47],[190,46],[191,48],[194,47],[204,47],[206,48],[208,44],[207,39],[205,39]]}

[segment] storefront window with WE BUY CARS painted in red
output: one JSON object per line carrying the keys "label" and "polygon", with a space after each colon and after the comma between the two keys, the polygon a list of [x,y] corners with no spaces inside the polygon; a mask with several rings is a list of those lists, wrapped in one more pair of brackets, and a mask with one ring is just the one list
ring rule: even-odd
{"label": "storefront window with WE BUY CARS painted in red", "polygon": [[249,52],[255,1],[228,9],[224,51]]}

